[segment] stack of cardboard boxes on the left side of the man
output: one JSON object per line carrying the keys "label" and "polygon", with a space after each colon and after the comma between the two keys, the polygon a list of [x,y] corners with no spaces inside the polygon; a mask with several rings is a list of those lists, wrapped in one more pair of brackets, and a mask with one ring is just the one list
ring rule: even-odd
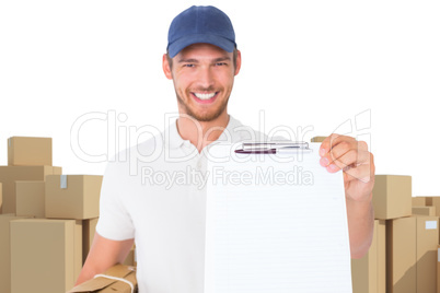
{"label": "stack of cardboard boxes on the left side of the man", "polygon": [[62,175],[53,166],[50,138],[8,140],[8,166],[0,166],[0,292],[73,286],[93,241],[102,178]]}

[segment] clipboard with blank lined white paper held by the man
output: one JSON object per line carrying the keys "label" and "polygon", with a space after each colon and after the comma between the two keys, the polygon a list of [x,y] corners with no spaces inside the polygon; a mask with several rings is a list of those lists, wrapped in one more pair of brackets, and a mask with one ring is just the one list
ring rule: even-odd
{"label": "clipboard with blank lined white paper held by the man", "polygon": [[352,293],[343,174],[299,145],[210,148],[206,293]]}

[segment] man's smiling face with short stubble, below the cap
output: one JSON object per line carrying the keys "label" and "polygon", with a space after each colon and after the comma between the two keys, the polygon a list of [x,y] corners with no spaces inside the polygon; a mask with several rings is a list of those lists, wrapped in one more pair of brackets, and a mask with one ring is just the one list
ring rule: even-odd
{"label": "man's smiling face with short stubble, below the cap", "polygon": [[163,70],[174,82],[181,114],[198,121],[212,121],[228,115],[227,106],[241,55],[235,66],[233,54],[209,44],[194,44],[180,51],[170,65],[163,57]]}

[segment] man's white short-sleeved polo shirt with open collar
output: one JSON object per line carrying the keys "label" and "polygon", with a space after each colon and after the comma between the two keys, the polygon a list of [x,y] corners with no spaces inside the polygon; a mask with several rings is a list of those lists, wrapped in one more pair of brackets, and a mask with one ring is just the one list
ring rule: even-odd
{"label": "man's white short-sleeved polo shirt with open collar", "polygon": [[[264,139],[230,116],[218,141]],[[105,171],[96,232],[135,238],[140,293],[204,292],[206,155],[175,122],[127,151]]]}

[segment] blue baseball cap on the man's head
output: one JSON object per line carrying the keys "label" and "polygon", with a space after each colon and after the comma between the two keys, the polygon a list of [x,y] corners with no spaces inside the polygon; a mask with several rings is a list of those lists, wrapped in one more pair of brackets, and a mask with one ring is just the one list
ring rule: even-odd
{"label": "blue baseball cap on the man's head", "polygon": [[229,52],[234,50],[234,28],[223,11],[215,7],[193,5],[174,17],[166,47],[170,57],[197,43],[208,43]]}

